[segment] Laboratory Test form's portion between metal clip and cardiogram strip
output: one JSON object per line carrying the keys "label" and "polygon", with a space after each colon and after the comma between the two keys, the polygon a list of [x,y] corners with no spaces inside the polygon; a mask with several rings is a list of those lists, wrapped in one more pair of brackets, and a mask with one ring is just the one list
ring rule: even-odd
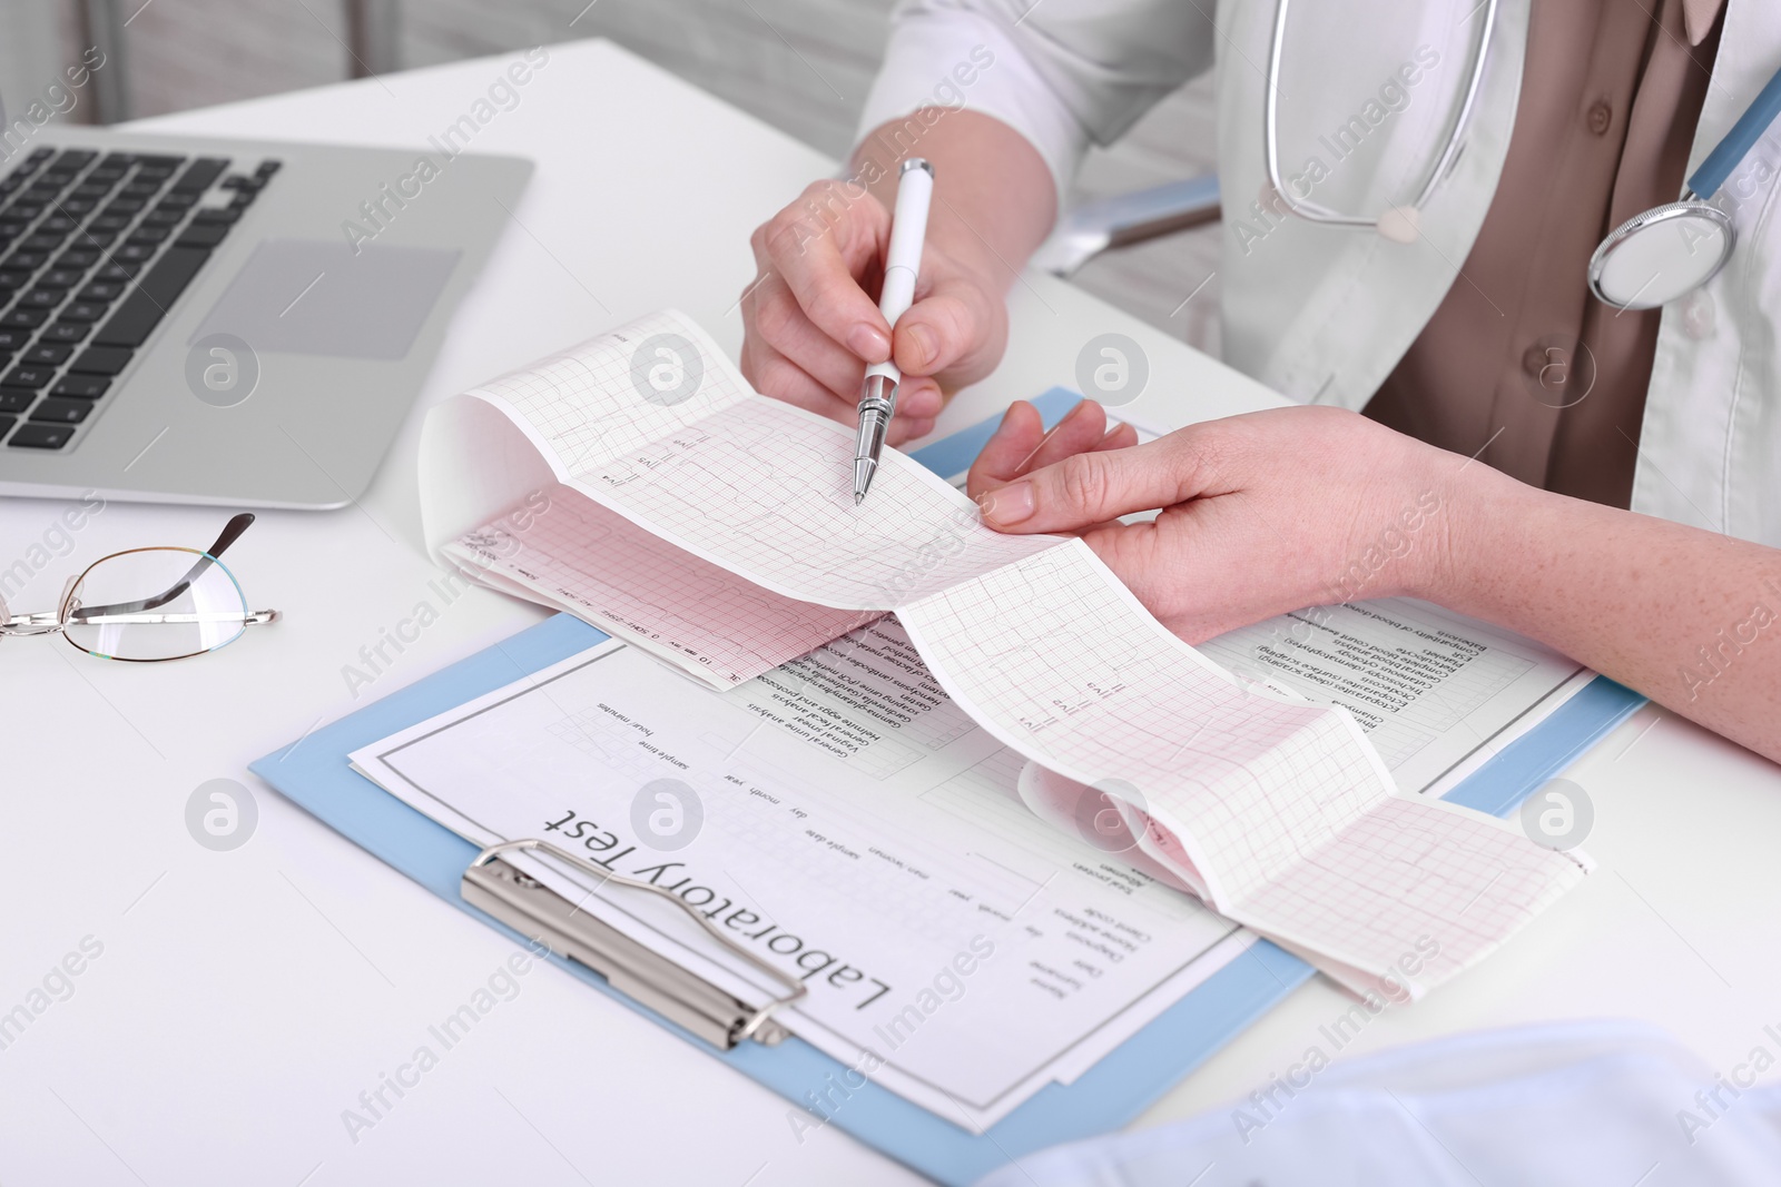
{"label": "Laboratory Test form's portion between metal clip and cardiogram strip", "polygon": [[[1024,760],[896,619],[725,694],[607,642],[353,762],[476,844],[538,836],[677,893],[805,982],[794,1034],[974,1130],[1252,943],[1035,819]],[[775,993],[650,895],[515,860],[744,1000]]]}

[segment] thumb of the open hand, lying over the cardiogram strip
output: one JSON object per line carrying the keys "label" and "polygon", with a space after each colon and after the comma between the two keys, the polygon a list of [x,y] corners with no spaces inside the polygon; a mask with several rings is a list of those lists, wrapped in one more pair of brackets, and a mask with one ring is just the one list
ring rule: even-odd
{"label": "thumb of the open hand, lying over the cardiogram strip", "polygon": [[1193,425],[1147,445],[1076,454],[985,491],[978,505],[999,530],[1069,532],[1222,493],[1216,440],[1216,429]]}

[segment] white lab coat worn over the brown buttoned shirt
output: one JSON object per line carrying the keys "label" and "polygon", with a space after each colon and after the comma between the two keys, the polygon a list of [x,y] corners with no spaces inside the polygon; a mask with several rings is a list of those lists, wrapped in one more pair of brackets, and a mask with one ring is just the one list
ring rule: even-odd
{"label": "white lab coat worn over the brown buttoned shirt", "polygon": [[[1352,214],[1405,201],[1443,148],[1444,116],[1476,39],[1478,16],[1468,23],[1475,4],[1298,0],[1282,55],[1282,173],[1291,178],[1309,151],[1322,153],[1313,148],[1320,128],[1375,116],[1366,101],[1393,64],[1425,46],[1452,68],[1448,89],[1409,87],[1407,101],[1375,126],[1373,155],[1364,164],[1352,157],[1346,169],[1327,160],[1330,178],[1314,190],[1318,201],[1339,201]],[[1501,0],[1464,149],[1423,208],[1421,238],[1412,244],[1265,210],[1263,71],[1273,0],[1225,0],[1216,25],[1213,0],[903,0],[862,133],[962,98],[1022,132],[1061,194],[1090,142],[1115,139],[1168,91],[1215,68],[1225,361],[1288,397],[1357,409],[1446,290],[1469,283],[1457,272],[1509,149],[1528,5]],[[1690,171],[1781,66],[1781,5],[1728,0],[1724,20]],[[1772,130],[1719,201],[1738,233],[1731,263],[1704,297],[1663,311],[1633,482],[1635,511],[1774,546],[1781,546],[1777,190],[1781,130]]]}

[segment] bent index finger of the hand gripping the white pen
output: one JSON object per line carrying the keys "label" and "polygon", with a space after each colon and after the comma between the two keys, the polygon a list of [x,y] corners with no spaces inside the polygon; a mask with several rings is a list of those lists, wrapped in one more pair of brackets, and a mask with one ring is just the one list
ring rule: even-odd
{"label": "bent index finger of the hand gripping the white pen", "polygon": [[890,212],[858,185],[817,182],[755,231],[755,254],[785,278],[828,338],[867,363],[890,358],[890,326],[860,278],[890,237]]}

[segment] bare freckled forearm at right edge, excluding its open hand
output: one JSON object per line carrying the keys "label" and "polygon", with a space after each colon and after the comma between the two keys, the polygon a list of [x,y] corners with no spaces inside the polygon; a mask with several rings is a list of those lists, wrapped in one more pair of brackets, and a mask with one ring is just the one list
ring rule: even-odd
{"label": "bare freckled forearm at right edge, excluding its open hand", "polygon": [[1781,762],[1781,552],[1523,486],[1462,479],[1419,596],[1532,635]]}

